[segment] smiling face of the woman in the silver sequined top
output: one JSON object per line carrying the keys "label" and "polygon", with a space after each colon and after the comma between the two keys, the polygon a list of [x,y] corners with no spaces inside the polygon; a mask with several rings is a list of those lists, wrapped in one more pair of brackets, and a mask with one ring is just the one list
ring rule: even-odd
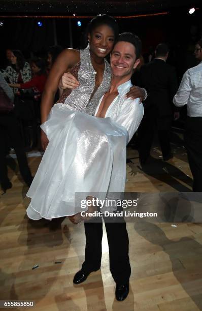
{"label": "smiling face of the woman in the silver sequined top", "polygon": [[90,51],[98,57],[104,58],[107,56],[114,45],[114,32],[107,25],[97,26],[88,34]]}

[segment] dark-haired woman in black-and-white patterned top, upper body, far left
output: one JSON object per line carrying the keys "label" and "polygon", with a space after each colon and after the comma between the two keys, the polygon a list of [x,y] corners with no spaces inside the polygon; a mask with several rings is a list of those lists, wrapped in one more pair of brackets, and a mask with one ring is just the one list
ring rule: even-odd
{"label": "dark-haired woman in black-and-white patterned top, upper body, far left", "polygon": [[[10,61],[12,65],[2,72],[9,83],[25,83],[31,80],[31,68],[19,50],[12,50]],[[13,91],[16,94],[18,89],[14,88]]]}

